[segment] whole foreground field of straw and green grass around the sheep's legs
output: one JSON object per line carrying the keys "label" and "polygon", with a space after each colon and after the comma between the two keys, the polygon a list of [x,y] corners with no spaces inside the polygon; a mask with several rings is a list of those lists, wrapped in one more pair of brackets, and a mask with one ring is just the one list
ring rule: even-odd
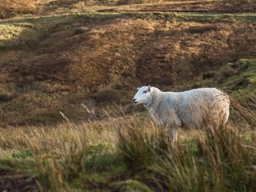
{"label": "whole foreground field of straw and green grass around the sheep's legs", "polygon": [[9,127],[0,130],[0,170],[30,175],[43,191],[254,191],[255,101],[233,99],[228,126],[179,130],[175,145],[150,118],[120,112],[81,125]]}

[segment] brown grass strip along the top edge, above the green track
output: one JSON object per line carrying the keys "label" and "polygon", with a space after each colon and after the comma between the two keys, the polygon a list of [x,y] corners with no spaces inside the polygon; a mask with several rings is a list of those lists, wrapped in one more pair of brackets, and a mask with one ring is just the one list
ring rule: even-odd
{"label": "brown grass strip along the top edge, above the green track", "polygon": [[255,0],[2,0],[0,16],[9,18],[16,14],[60,14],[81,11],[165,11],[165,12],[255,12]]}

